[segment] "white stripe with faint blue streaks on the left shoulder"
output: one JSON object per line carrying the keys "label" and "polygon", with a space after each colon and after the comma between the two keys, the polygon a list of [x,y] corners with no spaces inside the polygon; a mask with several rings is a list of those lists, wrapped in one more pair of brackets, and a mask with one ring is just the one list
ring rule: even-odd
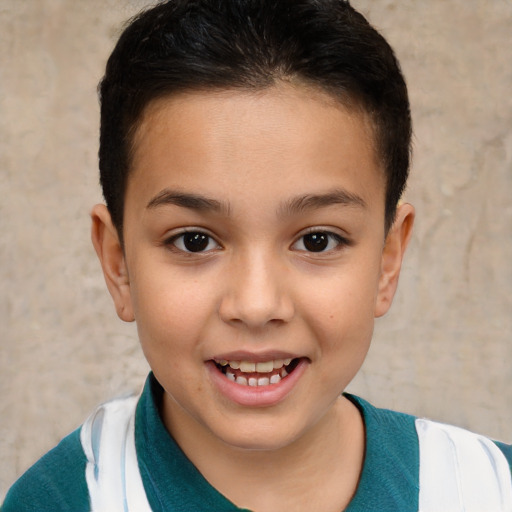
{"label": "white stripe with faint blue streaks on the left shoulder", "polygon": [[151,512],[135,450],[137,401],[132,396],[107,402],[82,426],[92,512]]}

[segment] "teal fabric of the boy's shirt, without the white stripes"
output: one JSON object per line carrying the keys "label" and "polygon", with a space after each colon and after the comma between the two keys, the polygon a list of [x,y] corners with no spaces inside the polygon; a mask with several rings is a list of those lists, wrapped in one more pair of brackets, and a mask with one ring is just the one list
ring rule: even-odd
{"label": "teal fabric of the boy's shirt, without the white stripes", "polygon": [[[139,469],[155,512],[241,511],[213,488],[165,429],[158,410],[163,390],[150,374],[137,405]],[[366,453],[356,494],[346,512],[416,512],[419,447],[415,418],[346,395],[361,411]],[[512,463],[512,447],[496,443]],[[10,489],[2,512],[89,511],[85,455],[76,430]]]}

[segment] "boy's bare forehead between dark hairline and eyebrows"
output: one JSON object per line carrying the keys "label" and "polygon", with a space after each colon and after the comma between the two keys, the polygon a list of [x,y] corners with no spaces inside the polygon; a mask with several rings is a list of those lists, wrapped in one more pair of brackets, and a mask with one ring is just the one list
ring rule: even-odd
{"label": "boy's bare forehead between dark hairline and eyebrows", "polygon": [[291,193],[332,188],[339,178],[359,195],[376,192],[384,198],[369,116],[304,85],[155,100],[142,115],[132,155],[128,190],[139,194],[207,183],[205,192],[216,183],[225,193],[255,179],[269,186],[279,182]]}

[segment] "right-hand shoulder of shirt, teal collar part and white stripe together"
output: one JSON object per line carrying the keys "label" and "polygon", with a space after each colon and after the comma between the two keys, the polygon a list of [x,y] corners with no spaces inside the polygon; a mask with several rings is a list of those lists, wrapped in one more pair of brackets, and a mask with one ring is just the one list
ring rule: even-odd
{"label": "right-hand shoulder of shirt, teal collar part and white stripe together", "polygon": [[512,510],[510,446],[345,396],[366,427],[363,473],[347,510],[462,510],[447,503],[482,505],[478,510],[510,503]]}

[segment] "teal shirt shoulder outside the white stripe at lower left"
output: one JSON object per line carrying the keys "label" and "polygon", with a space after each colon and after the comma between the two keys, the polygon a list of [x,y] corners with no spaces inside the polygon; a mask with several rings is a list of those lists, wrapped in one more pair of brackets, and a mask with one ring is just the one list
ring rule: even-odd
{"label": "teal shirt shoulder outside the white stripe at lower left", "polygon": [[80,429],[65,437],[11,487],[2,512],[89,510]]}

